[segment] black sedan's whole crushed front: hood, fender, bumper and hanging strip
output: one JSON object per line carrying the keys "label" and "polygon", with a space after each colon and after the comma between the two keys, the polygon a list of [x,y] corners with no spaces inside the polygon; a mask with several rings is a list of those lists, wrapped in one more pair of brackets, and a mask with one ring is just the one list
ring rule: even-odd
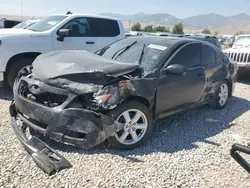
{"label": "black sedan's whole crushed front: hood, fender, bumper and hanging strip", "polygon": [[124,128],[112,112],[126,99],[140,96],[152,107],[158,78],[141,77],[138,67],[65,51],[41,55],[20,71],[10,107],[12,126],[39,167],[51,173],[70,164],[35,137],[37,133],[89,149]]}

